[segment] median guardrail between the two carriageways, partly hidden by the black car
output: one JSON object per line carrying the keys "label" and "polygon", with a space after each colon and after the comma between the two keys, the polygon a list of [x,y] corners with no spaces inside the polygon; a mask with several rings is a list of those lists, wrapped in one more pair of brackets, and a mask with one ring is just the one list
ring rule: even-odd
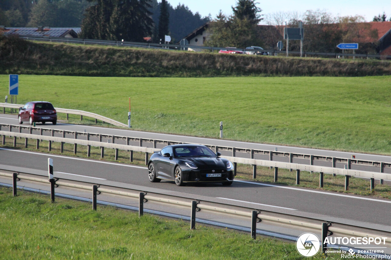
{"label": "median guardrail between the two carriageways, partly hidden by the black car", "polygon": [[[18,132],[12,132],[12,130],[17,129]],[[22,133],[22,129],[28,130],[28,133]],[[6,131],[5,131],[6,130]],[[32,134],[32,132],[38,132],[38,134]],[[50,134],[43,135],[45,133]],[[60,137],[54,136],[59,134]],[[37,149],[39,148],[39,140],[49,141],[49,150],[51,149],[50,142],[61,142],[61,152],[63,151],[63,144],[70,143],[75,145],[74,153],[77,153],[77,144],[88,146],[87,156],[90,156],[91,146],[97,146],[101,148],[101,157],[104,157],[104,148],[115,149],[115,160],[118,159],[118,150],[128,150],[132,151],[130,153],[130,161],[133,161],[133,151],[139,151],[145,153],[145,164],[148,163],[149,153],[156,151],[157,144],[163,144],[164,146],[170,144],[181,144],[183,142],[174,142],[166,140],[156,140],[156,139],[143,139],[135,137],[126,137],[126,136],[116,136],[116,135],[103,135],[103,134],[92,134],[84,132],[72,132],[66,130],[54,130],[48,128],[34,128],[30,126],[20,126],[20,125],[5,125],[0,124],[0,135],[3,135],[2,143],[5,144],[5,136],[14,137],[14,146],[16,146],[16,137],[25,138],[25,147],[27,147],[27,139],[36,139],[37,140]],[[72,138],[66,138],[66,135],[71,135]],[[80,139],[83,137],[83,139]],[[91,140],[95,139],[95,140]],[[102,140],[107,140],[107,142],[102,142]],[[131,142],[136,142],[138,146],[130,145]],[[152,147],[143,147],[143,143],[147,142]],[[370,188],[371,191],[374,189],[374,180],[380,179],[391,180],[391,174],[384,173],[384,167],[391,167],[391,163],[386,162],[374,162],[366,160],[357,160],[349,158],[336,158],[336,157],[325,157],[320,155],[306,155],[298,153],[285,153],[281,151],[263,151],[263,150],[253,150],[246,148],[232,148],[232,147],[222,147],[222,146],[212,146],[210,144],[204,144],[216,152],[219,150],[231,151],[232,156],[222,155],[221,157],[227,158],[234,163],[235,173],[236,173],[236,164],[251,164],[253,166],[253,178],[256,178],[256,166],[268,166],[274,167],[274,182],[278,181],[278,168],[285,169],[295,169],[296,170],[296,184],[300,183],[300,171],[311,171],[320,173],[319,177],[319,186],[323,187],[323,174],[333,174],[333,175],[344,175],[345,176],[345,189],[348,189],[349,177],[356,176],[362,178],[369,178],[371,180]],[[242,155],[250,153],[251,158],[238,157],[237,152]],[[255,154],[268,155],[269,160],[262,160],[254,158]],[[273,160],[273,157],[282,157],[289,158],[289,162],[281,162]],[[298,164],[293,163],[293,158],[308,158],[309,164]],[[332,162],[330,166],[316,166],[314,165],[314,159],[320,161],[330,161]],[[346,163],[345,168],[337,168],[336,162]],[[362,171],[357,169],[351,169],[352,163],[361,164],[361,165],[370,165],[375,167],[380,167],[380,171]]]}

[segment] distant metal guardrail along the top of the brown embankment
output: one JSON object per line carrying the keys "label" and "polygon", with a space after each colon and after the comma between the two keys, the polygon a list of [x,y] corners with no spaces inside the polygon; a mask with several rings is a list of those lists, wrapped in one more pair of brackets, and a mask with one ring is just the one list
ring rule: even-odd
{"label": "distant metal guardrail along the top of the brown embankment", "polygon": [[[226,50],[224,47],[209,47],[209,46],[195,46],[195,45],[173,45],[173,44],[158,44],[158,43],[138,43],[138,42],[129,42],[129,41],[107,41],[107,40],[91,40],[91,39],[79,39],[79,38],[59,38],[59,37],[48,37],[48,36],[23,36],[21,38],[33,41],[50,41],[50,42],[60,42],[60,43],[78,43],[78,44],[89,44],[89,45],[106,45],[106,46],[127,46],[127,47],[140,47],[140,48],[159,48],[167,50],[182,50],[185,48],[195,48],[202,50],[211,50],[219,51]],[[251,52],[254,50],[246,48],[233,48],[233,50],[240,50],[243,52]],[[264,50],[264,52],[269,52],[272,55],[277,53],[286,53],[286,51],[279,50]],[[300,55],[300,52],[290,51],[291,54]],[[369,55],[369,54],[351,54],[351,53],[329,53],[329,52],[303,52],[304,57],[307,55],[314,56],[326,56],[326,57],[339,57],[339,56],[348,56],[348,57],[360,57],[360,58],[376,58],[376,59],[391,59],[391,55]]]}

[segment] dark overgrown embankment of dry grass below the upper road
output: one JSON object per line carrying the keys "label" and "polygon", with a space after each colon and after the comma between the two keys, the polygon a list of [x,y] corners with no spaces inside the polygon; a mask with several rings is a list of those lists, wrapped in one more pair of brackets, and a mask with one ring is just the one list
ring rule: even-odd
{"label": "dark overgrown embankment of dry grass below the upper road", "polygon": [[[0,38],[0,74],[94,77],[375,76],[378,60],[255,57]],[[189,80],[189,83],[191,80]]]}

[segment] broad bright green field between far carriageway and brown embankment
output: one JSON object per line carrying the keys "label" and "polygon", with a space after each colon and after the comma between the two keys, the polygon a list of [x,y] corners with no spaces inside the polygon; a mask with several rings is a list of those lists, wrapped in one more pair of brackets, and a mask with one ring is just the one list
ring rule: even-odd
{"label": "broad bright green field between far carriageway and brown embankment", "polygon": [[[124,78],[20,75],[18,103],[95,112],[136,130],[391,154],[391,76]],[[0,75],[0,96],[8,94]]]}

